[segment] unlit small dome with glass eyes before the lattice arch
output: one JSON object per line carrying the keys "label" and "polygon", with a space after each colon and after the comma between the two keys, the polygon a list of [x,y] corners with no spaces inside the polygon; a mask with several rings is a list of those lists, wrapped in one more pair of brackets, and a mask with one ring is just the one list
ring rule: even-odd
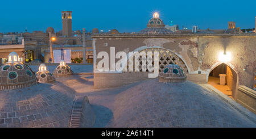
{"label": "unlit small dome with glass eyes before the lattice arch", "polygon": [[175,64],[167,65],[159,73],[159,82],[185,82],[187,76],[185,75],[183,69]]}

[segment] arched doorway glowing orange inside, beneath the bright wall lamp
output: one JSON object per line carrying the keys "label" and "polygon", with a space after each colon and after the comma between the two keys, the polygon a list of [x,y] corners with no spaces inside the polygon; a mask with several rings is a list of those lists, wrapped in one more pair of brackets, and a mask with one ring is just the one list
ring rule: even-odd
{"label": "arched doorway glowing orange inside, beneath the bright wall lamp", "polygon": [[215,66],[208,75],[208,83],[232,99],[236,99],[237,81],[236,71],[225,63]]}

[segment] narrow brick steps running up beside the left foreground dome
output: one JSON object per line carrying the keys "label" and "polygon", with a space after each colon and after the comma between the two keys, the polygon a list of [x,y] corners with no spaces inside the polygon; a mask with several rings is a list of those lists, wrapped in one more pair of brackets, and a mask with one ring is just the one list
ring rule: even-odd
{"label": "narrow brick steps running up beside the left foreground dome", "polygon": [[70,128],[79,128],[80,119],[82,114],[82,100],[75,100],[71,113]]}

